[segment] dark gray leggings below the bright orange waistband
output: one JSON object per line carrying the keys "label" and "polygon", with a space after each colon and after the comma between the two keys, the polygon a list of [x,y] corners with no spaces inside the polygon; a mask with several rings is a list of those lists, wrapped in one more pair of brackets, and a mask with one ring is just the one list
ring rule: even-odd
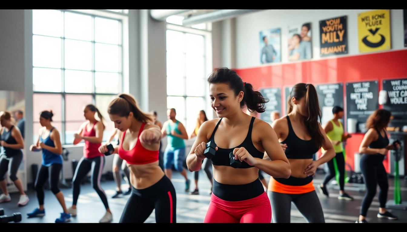
{"label": "dark gray leggings below the bright orange waistband", "polygon": [[303,194],[286,194],[267,191],[274,223],[290,223],[291,202],[309,223],[325,223],[324,212],[314,191]]}

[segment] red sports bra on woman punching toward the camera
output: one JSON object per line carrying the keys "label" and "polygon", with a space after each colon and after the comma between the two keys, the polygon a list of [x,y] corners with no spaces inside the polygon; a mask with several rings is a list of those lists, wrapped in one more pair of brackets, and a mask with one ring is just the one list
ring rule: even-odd
{"label": "red sports bra on woman punching toward the camera", "polygon": [[143,123],[140,127],[140,131],[138,132],[137,136],[137,142],[136,146],[133,147],[131,150],[123,150],[123,139],[126,135],[126,132],[123,132],[122,139],[120,141],[119,149],[118,149],[118,154],[120,158],[123,160],[126,160],[128,164],[135,164],[135,165],[142,165],[142,164],[148,164],[148,163],[153,163],[158,160],[158,155],[160,153],[159,150],[157,151],[151,151],[147,150],[141,145],[140,143],[140,134],[144,129],[144,126],[146,124]]}

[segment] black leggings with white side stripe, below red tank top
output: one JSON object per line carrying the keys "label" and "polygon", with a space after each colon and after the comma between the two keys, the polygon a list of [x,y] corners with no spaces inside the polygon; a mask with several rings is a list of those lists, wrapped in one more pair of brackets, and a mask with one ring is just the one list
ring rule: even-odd
{"label": "black leggings with white side stripe, below red tank top", "polygon": [[108,209],[109,205],[107,204],[107,197],[105,191],[103,191],[101,187],[101,177],[103,172],[103,167],[105,166],[105,156],[98,156],[95,158],[85,158],[82,157],[79,160],[77,169],[75,170],[73,182],[74,182],[74,190],[73,190],[73,203],[72,205],[77,205],[79,192],[81,190],[81,181],[82,179],[88,175],[89,171],[92,171],[91,182],[93,189],[96,190],[99,197],[101,198],[103,205],[105,208]]}

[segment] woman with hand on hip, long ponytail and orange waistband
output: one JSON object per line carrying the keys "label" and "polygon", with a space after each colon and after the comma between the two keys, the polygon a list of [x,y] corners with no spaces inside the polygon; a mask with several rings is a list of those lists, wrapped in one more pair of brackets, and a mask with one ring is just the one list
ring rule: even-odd
{"label": "woman with hand on hip, long ponytail and orange waistband", "polygon": [[[288,179],[273,177],[269,181],[267,193],[273,222],[290,223],[293,202],[309,223],[325,223],[312,180],[317,167],[331,160],[335,151],[318,121],[321,110],[315,87],[296,84],[290,96],[288,115],[272,125],[279,141],[287,144],[285,154],[291,165]],[[313,154],[321,147],[325,152],[318,160],[313,160]]]}

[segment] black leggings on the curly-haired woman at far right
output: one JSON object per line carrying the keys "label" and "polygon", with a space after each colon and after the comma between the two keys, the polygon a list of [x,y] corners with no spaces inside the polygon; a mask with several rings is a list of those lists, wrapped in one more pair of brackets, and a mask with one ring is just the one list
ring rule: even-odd
{"label": "black leggings on the curly-haired woman at far right", "polygon": [[362,200],[360,215],[366,217],[368,208],[372,204],[376,195],[377,184],[379,184],[379,204],[380,208],[386,208],[387,191],[389,183],[387,181],[387,172],[383,165],[383,159],[379,155],[363,155],[360,159],[360,169],[366,184],[366,195]]}

